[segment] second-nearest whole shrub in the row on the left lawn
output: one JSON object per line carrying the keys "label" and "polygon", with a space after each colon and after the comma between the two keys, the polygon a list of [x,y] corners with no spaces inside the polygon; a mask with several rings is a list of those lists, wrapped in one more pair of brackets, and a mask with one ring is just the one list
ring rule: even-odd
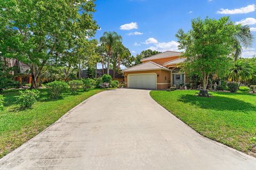
{"label": "second-nearest whole shrub in the row on the left lawn", "polygon": [[64,81],[52,81],[47,83],[46,87],[49,88],[50,97],[55,99],[68,89],[68,84]]}

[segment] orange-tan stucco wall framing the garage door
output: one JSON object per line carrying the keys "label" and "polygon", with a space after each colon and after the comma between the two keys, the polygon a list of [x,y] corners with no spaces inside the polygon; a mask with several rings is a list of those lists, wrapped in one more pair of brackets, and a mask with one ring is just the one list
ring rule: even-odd
{"label": "orange-tan stucco wall framing the garage door", "polygon": [[[166,89],[171,86],[171,73],[165,70],[132,71],[124,73],[125,87],[127,87],[127,77],[129,74],[156,73],[157,89]],[[166,79],[165,79],[166,78]]]}

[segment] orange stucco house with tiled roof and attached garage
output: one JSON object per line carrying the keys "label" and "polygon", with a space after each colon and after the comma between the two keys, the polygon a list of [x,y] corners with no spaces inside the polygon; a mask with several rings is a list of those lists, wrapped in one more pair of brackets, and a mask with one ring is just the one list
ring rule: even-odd
{"label": "orange stucco house with tiled roof and attached garage", "polygon": [[143,58],[142,64],[123,70],[125,87],[166,89],[174,84],[179,86],[188,83],[186,74],[179,67],[186,58],[180,55],[180,52],[167,51]]}

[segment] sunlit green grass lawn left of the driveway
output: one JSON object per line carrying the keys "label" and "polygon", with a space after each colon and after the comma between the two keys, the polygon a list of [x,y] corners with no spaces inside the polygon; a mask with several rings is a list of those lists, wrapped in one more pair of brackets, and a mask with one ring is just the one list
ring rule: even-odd
{"label": "sunlit green grass lawn left of the driveway", "polygon": [[42,132],[71,108],[103,90],[81,90],[76,95],[67,92],[59,100],[49,99],[47,89],[39,91],[39,100],[33,108],[25,111],[20,111],[15,103],[19,95],[18,90],[3,92],[5,111],[0,112],[0,158]]}

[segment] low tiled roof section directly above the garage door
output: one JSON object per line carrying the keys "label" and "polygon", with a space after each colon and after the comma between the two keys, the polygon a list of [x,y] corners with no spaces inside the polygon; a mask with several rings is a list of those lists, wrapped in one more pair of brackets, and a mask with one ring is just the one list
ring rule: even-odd
{"label": "low tiled roof section directly above the garage door", "polygon": [[148,61],[146,63],[141,63],[141,64],[135,65],[133,67],[127,68],[127,69],[123,70],[123,72],[142,71],[142,70],[167,70],[167,71],[170,71],[163,65]]}

